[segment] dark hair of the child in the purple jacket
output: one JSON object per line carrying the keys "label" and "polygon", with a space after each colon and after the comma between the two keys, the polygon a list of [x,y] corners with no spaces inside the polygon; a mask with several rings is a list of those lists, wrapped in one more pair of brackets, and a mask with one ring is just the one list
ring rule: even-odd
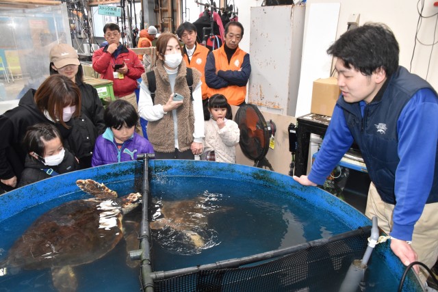
{"label": "dark hair of the child in the purple jacket", "polygon": [[138,122],[138,114],[131,103],[118,99],[110,103],[103,114],[105,125],[120,130],[125,124],[131,128]]}

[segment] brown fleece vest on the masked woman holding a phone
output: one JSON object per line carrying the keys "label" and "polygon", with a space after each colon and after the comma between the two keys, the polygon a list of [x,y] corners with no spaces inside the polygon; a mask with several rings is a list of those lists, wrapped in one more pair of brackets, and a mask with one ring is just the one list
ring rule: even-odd
{"label": "brown fleece vest on the masked woman holding a phone", "polygon": [[[155,90],[154,105],[166,105],[172,90],[166,70],[164,69],[164,62],[157,60],[157,66],[154,68],[155,80],[157,90]],[[196,88],[200,79],[201,73],[197,70],[193,72],[193,85]],[[190,89],[185,79],[186,75],[185,62],[181,62],[178,69],[177,79],[175,80],[174,92],[184,96],[183,105],[177,108],[177,127],[178,127],[178,144],[179,150],[189,150],[194,140],[194,114],[193,103],[190,98]],[[142,75],[144,83],[148,83],[146,74]],[[147,127],[149,142],[157,152],[173,152],[175,151],[175,129],[173,127],[172,112],[164,114],[163,118],[157,121],[148,122]]]}

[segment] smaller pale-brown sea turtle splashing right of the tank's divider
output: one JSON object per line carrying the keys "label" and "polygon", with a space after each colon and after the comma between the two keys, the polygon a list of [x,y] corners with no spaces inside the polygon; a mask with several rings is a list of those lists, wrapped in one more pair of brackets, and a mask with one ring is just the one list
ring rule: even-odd
{"label": "smaller pale-brown sea turtle splashing right of the tank's divider", "polygon": [[[157,202],[159,209],[153,214],[149,227],[153,230],[171,228],[176,233],[183,234],[194,248],[205,248],[208,241],[205,238],[205,231],[209,228],[209,214],[229,209],[229,207],[206,204],[207,200],[208,198],[204,196],[197,196],[185,200],[159,201]],[[208,230],[210,234],[213,231],[211,228]]]}

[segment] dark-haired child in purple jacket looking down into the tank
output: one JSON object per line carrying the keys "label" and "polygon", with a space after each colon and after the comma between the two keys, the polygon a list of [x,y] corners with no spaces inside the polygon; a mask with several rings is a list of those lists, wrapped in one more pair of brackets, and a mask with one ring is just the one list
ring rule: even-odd
{"label": "dark-haired child in purple jacket looking down into the tank", "polygon": [[97,137],[92,166],[136,160],[140,153],[153,153],[153,146],[134,133],[138,122],[136,109],[123,99],[113,101],[103,115],[106,131]]}

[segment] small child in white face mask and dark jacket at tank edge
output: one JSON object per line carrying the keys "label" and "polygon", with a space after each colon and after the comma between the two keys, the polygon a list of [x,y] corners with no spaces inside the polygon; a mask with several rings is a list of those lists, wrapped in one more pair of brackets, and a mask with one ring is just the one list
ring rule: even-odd
{"label": "small child in white face mask and dark jacket at tank edge", "polygon": [[17,187],[79,170],[77,160],[64,148],[60,131],[53,124],[40,123],[29,127],[23,147],[27,152],[25,170]]}

